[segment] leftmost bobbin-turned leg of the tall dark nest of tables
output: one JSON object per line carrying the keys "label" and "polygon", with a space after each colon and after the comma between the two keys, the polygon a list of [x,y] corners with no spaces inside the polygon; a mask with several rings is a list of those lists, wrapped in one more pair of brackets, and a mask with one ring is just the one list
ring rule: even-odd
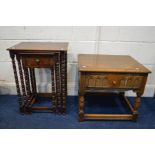
{"label": "leftmost bobbin-turned leg of the tall dark nest of tables", "polygon": [[22,102],[22,96],[20,92],[20,86],[19,86],[19,80],[18,80],[18,75],[17,75],[17,68],[16,68],[16,63],[15,63],[15,54],[10,53],[10,57],[12,60],[12,67],[13,67],[13,72],[14,72],[14,77],[15,77],[15,83],[16,83],[16,89],[17,89],[17,95],[18,95],[18,103],[19,103],[19,110],[20,112],[23,111],[23,102]]}

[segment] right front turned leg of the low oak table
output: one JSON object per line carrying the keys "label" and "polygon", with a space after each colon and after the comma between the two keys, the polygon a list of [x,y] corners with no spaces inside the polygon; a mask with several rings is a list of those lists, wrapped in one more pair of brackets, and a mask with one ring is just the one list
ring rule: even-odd
{"label": "right front turned leg of the low oak table", "polygon": [[135,104],[134,104],[134,112],[133,112],[133,121],[137,121],[137,118],[138,118],[138,109],[140,107],[140,104],[141,104],[141,96],[142,96],[142,93],[140,92],[136,92],[136,97],[135,97]]}

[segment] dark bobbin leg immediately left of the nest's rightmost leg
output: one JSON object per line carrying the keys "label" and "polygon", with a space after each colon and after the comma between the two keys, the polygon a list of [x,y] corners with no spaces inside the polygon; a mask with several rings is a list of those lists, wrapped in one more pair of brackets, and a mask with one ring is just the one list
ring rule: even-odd
{"label": "dark bobbin leg immediately left of the nest's rightmost leg", "polygon": [[60,113],[61,108],[61,88],[60,88],[60,56],[57,55],[57,62],[55,64],[55,75],[56,75],[56,96],[57,96],[57,104],[56,104],[56,113]]}

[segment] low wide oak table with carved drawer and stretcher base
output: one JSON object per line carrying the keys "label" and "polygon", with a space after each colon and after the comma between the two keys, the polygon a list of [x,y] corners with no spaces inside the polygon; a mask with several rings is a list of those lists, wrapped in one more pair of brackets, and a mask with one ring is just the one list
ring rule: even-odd
{"label": "low wide oak table with carved drawer and stretcher base", "polygon": [[[81,54],[79,64],[79,121],[83,120],[137,120],[140,97],[144,92],[150,71],[130,56]],[[136,92],[132,106],[124,92]],[[127,105],[128,114],[85,113],[86,93],[117,92]]]}

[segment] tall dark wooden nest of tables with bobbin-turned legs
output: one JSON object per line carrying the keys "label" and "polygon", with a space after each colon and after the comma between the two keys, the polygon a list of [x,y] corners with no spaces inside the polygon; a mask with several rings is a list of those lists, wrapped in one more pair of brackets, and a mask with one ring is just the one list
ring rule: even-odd
{"label": "tall dark wooden nest of tables with bobbin-turned legs", "polygon": [[[12,59],[20,112],[66,112],[67,47],[68,43],[21,42],[8,49]],[[51,93],[37,92],[35,68],[51,70]],[[51,98],[51,106],[34,106],[39,96]]]}

